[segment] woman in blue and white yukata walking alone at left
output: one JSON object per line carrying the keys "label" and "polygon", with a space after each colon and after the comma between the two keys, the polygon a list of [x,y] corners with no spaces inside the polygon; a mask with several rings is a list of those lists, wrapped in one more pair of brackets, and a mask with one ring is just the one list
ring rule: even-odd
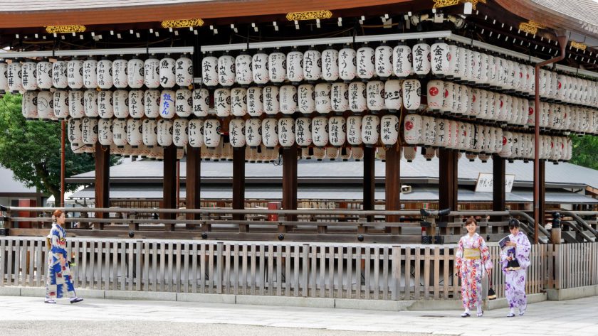
{"label": "woman in blue and white yukata walking alone at left", "polygon": [[66,231],[63,228],[65,214],[62,210],[54,211],[52,229],[48,234],[51,249],[48,251],[48,278],[46,280],[45,303],[56,303],[58,298],[70,298],[70,303],[83,301],[75,294],[75,286],[70,276],[70,267],[66,260]]}

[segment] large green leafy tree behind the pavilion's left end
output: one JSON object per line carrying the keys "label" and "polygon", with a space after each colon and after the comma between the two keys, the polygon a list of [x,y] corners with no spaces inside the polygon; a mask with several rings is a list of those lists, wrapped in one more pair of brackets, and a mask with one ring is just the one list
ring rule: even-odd
{"label": "large green leafy tree behind the pavilion's left end", "polygon": [[[95,169],[93,156],[75,154],[66,142],[65,176]],[[112,158],[111,163],[117,160]],[[21,95],[0,99],[0,166],[13,171],[28,188],[61,198],[61,123],[26,121],[21,114]],[[66,185],[67,191],[78,185]]]}

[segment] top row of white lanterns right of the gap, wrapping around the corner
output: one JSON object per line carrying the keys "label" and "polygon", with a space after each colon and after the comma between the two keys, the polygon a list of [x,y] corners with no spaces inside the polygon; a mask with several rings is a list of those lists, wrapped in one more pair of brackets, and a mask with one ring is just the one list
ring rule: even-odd
{"label": "top row of white lanterns right of the gap, wrapping around the corner", "polygon": [[[231,87],[235,84],[282,84],[286,80],[325,80],[335,82],[355,79],[369,81],[374,77],[404,78],[424,76],[431,72],[436,77],[450,77],[471,85],[493,87],[533,95],[535,94],[535,67],[437,42],[417,43],[413,47],[403,43],[392,48],[379,45],[352,48],[327,48],[320,51],[293,49],[290,53],[258,51],[254,55],[241,53],[236,57],[226,53],[216,58],[204,57],[201,62],[204,85]],[[560,102],[598,107],[598,82],[540,70],[540,96]]]}

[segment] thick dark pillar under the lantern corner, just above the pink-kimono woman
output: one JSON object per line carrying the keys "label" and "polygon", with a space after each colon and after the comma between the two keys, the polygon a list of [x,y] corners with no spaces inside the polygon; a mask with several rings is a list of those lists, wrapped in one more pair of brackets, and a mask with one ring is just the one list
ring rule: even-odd
{"label": "thick dark pillar under the lantern corner, just above the pink-kimono woman", "polygon": [[[451,149],[441,148],[439,157],[439,209],[457,209],[458,191],[458,159],[457,152]],[[442,222],[451,222],[452,217],[443,216]]]}

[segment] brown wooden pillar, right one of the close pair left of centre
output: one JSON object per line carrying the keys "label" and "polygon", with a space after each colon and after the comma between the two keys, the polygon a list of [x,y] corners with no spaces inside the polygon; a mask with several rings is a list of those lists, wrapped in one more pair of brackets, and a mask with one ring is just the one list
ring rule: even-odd
{"label": "brown wooden pillar, right one of the close pair left of centre", "polygon": [[[185,177],[185,201],[187,209],[199,209],[201,200],[201,148],[187,145],[187,172]],[[187,220],[200,220],[199,214],[187,214]],[[187,229],[194,229],[195,224],[187,224]]]}

